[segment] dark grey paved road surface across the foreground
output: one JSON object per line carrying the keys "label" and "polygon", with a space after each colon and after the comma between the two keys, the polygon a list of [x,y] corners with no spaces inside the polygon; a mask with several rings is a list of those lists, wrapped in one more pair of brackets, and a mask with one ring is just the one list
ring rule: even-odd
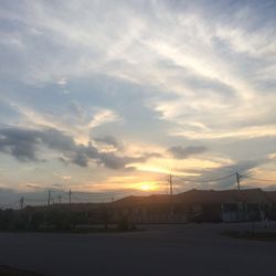
{"label": "dark grey paved road surface across the foreground", "polygon": [[276,275],[276,243],[220,234],[248,227],[188,224],[124,234],[0,233],[0,265],[53,276]]}

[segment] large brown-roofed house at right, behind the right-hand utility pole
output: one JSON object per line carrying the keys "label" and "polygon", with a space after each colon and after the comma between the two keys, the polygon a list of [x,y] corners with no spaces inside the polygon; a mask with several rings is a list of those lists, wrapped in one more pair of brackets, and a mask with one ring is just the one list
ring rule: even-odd
{"label": "large brown-roofed house at right, behind the right-hand utility pole", "polygon": [[262,220],[272,205],[269,198],[261,189],[240,191],[191,190],[178,194],[178,198],[179,203],[188,205],[189,217],[194,221],[241,222]]}

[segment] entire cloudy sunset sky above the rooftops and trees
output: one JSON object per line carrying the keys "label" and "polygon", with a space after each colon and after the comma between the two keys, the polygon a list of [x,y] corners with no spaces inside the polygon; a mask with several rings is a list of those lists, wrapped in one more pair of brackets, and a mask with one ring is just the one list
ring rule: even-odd
{"label": "entire cloudy sunset sky above the rooftops and trees", "polygon": [[170,173],[176,193],[235,189],[235,171],[243,189],[274,189],[275,10],[2,0],[0,204],[49,189],[167,193]]}

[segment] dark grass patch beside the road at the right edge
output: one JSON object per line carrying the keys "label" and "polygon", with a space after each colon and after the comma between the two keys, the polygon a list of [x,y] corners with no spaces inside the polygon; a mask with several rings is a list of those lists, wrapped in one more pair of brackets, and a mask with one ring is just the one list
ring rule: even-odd
{"label": "dark grass patch beside the road at the right edge", "polygon": [[222,234],[225,236],[241,238],[241,240],[276,242],[276,232],[226,231],[223,232]]}

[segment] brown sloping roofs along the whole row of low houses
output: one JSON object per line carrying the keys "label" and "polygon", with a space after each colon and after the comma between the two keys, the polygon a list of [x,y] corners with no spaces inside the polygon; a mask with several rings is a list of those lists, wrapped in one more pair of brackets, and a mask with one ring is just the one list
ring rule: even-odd
{"label": "brown sloping roofs along the whole row of low houses", "polygon": [[[172,195],[176,204],[222,204],[222,203],[275,203],[276,191],[263,191],[262,189],[246,190],[190,190]],[[130,195],[117,200],[113,203],[62,203],[51,205],[52,210],[74,210],[89,211],[100,210],[104,206],[128,208],[169,204],[171,197],[169,194],[152,194],[148,197]],[[43,211],[46,206],[28,206],[29,210]]]}

